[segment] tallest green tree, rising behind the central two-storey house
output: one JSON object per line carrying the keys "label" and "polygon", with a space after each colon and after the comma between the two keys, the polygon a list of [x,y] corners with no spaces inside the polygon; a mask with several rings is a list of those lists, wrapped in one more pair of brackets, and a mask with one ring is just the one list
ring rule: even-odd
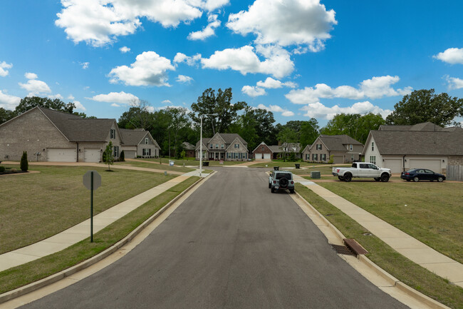
{"label": "tallest green tree, rising behind the central two-storey house", "polygon": [[196,103],[192,103],[192,113],[190,118],[199,126],[199,117],[204,114],[216,113],[218,116],[209,116],[203,118],[202,129],[203,136],[213,136],[216,132],[225,133],[229,131],[229,126],[236,121],[238,111],[247,106],[246,102],[237,102],[231,104],[233,94],[231,88],[217,91],[212,88],[206,89],[198,97]]}

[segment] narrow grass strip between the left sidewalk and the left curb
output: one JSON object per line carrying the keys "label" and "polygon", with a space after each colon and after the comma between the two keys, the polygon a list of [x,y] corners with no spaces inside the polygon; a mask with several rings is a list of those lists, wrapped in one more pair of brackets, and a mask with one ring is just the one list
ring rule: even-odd
{"label": "narrow grass strip between the left sidewalk and the left curb", "polygon": [[199,177],[190,177],[161,193],[123,218],[95,233],[93,243],[90,243],[90,238],[87,238],[58,253],[4,270],[0,273],[0,293],[46,278],[48,275],[58,273],[106,250],[198,180]]}

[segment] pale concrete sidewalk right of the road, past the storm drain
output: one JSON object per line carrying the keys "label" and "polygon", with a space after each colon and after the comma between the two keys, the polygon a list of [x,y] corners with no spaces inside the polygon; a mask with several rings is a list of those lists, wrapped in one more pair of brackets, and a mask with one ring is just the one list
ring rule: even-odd
{"label": "pale concrete sidewalk right of the road, past the storm drain", "polygon": [[318,196],[321,196],[350,218],[353,218],[360,226],[368,229],[368,231],[383,240],[387,245],[390,245],[398,253],[412,260],[412,262],[463,288],[463,265],[461,263],[437,252],[407,233],[373,216],[368,211],[350,203],[345,198],[341,198],[328,189],[318,186],[313,181],[308,181],[297,175],[294,175],[294,181],[317,193]]}

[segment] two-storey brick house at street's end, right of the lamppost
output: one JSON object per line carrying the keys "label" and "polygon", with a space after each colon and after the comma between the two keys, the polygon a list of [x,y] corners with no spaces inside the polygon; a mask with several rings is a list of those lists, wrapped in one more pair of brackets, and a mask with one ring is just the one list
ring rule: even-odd
{"label": "two-storey brick house at street's end, right of the lamppost", "polygon": [[196,159],[202,142],[202,158],[216,161],[247,161],[248,143],[236,133],[215,133],[212,138],[203,138],[196,143]]}

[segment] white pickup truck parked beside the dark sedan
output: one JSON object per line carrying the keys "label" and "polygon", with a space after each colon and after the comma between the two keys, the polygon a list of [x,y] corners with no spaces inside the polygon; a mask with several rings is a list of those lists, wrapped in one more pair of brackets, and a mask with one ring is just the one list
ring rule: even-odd
{"label": "white pickup truck parked beside the dark sedan", "polygon": [[353,177],[375,178],[375,181],[389,181],[391,176],[389,168],[378,168],[373,163],[354,162],[350,168],[333,168],[333,176],[340,181],[349,182]]}

